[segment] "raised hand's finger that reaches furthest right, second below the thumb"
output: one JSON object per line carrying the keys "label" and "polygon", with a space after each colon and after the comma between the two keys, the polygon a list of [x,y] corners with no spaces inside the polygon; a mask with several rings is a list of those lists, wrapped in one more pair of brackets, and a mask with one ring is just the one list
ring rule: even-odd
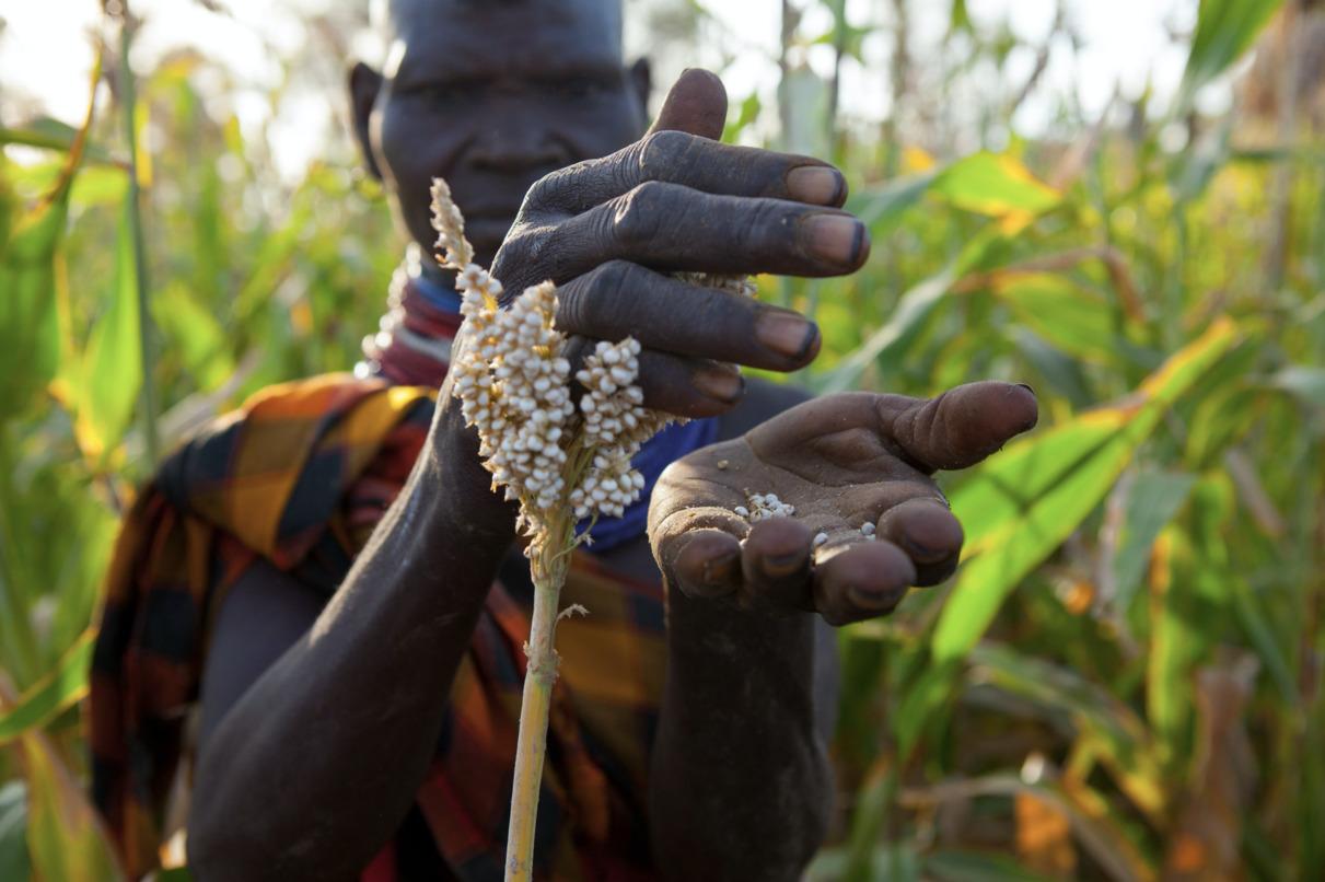
{"label": "raised hand's finger that reaches furthest right, second below the thumb", "polygon": [[517,232],[502,248],[513,246],[515,256],[537,246],[558,285],[612,260],[662,271],[824,277],[860,269],[869,233],[840,211],[647,181],[553,230]]}

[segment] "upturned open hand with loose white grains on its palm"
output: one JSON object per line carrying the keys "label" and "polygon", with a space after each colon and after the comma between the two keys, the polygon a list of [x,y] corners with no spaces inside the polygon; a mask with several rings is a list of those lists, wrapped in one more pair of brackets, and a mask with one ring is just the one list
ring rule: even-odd
{"label": "upturned open hand with loose white grains on its palm", "polygon": [[[689,596],[818,611],[833,625],[886,614],[908,587],[957,568],[962,527],[933,473],[982,461],[1036,418],[1028,387],[992,381],[931,400],[807,401],[672,464],[649,506],[653,555]],[[794,514],[751,524],[735,513],[770,493]]]}

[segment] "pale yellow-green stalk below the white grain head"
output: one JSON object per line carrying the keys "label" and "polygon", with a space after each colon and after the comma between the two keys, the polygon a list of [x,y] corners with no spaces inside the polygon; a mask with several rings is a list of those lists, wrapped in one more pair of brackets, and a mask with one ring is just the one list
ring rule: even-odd
{"label": "pale yellow-green stalk below the white grain head", "polygon": [[570,513],[558,518],[549,536],[541,538],[530,573],[534,580],[534,616],[525,654],[525,694],[519,709],[519,735],[515,742],[515,780],[510,797],[510,829],[506,836],[506,882],[527,882],[534,874],[534,828],[538,821],[538,793],[547,754],[547,716],[553,705],[559,658],[553,648],[556,636],[562,585],[575,540],[575,520]]}

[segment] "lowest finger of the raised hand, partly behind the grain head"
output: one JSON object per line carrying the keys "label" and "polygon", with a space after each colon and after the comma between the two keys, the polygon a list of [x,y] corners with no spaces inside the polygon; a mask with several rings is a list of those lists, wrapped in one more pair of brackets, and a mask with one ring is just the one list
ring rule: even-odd
{"label": "lowest finger of the raised hand, partly behind the grain head", "polygon": [[[572,336],[566,359],[574,376],[598,340]],[[644,350],[636,385],[653,411],[698,420],[730,411],[745,396],[745,377],[731,364]],[[576,384],[578,385],[578,384]]]}

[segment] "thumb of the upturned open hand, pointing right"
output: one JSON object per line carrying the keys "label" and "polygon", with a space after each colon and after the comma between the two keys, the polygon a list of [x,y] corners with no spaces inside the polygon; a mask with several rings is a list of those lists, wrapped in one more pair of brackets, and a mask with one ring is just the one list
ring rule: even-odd
{"label": "thumb of the upturned open hand, pointing right", "polygon": [[1039,420],[1035,392],[1010,383],[970,383],[937,399],[884,395],[881,433],[925,471],[965,469],[1000,449]]}

